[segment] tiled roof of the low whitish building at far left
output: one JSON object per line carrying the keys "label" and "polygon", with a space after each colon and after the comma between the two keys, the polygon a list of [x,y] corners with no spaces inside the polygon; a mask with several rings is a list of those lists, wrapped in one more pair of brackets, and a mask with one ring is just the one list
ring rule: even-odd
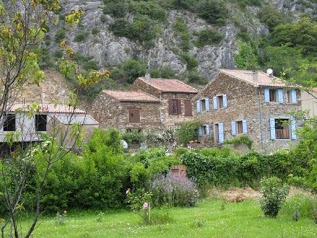
{"label": "tiled roof of the low whitish building at far left", "polygon": [[[9,110],[11,112],[21,110],[21,111],[29,111],[30,103],[18,103],[9,106]],[[39,104],[39,112],[47,112],[47,113],[75,113],[75,114],[85,114],[85,111],[80,109],[74,109],[68,105],[61,104]]]}

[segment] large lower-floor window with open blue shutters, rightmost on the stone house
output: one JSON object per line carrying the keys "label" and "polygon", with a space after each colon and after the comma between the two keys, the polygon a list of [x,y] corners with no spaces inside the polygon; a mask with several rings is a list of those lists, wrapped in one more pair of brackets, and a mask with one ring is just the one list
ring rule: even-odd
{"label": "large lower-floor window with open blue shutters, rightmost on the stone house", "polygon": [[271,139],[296,139],[296,121],[291,118],[270,118]]}

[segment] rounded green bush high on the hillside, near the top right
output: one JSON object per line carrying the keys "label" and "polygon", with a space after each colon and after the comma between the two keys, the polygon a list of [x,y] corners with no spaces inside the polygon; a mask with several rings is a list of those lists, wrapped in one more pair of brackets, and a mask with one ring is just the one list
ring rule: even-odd
{"label": "rounded green bush high on the hillside, near the top right", "polygon": [[258,18],[261,23],[265,24],[269,28],[271,32],[276,26],[287,23],[287,17],[269,4],[263,5],[258,12]]}

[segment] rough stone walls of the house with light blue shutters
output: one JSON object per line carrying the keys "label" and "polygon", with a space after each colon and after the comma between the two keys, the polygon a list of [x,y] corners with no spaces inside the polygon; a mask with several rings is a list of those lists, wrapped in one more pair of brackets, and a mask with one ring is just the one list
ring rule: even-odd
{"label": "rough stone walls of the house with light blue shutters", "polygon": [[[284,90],[286,92],[286,90]],[[213,108],[213,97],[225,94],[227,96],[227,108]],[[209,98],[210,111],[197,113],[195,103],[195,118],[203,124],[210,125],[210,138],[215,139],[215,124],[224,124],[224,138],[233,138],[231,131],[232,121],[247,121],[247,136],[253,140],[254,148],[259,151],[270,152],[277,148],[289,148],[291,139],[271,140],[270,123],[272,117],[290,118],[291,111],[301,109],[300,92],[297,91],[297,104],[264,102],[264,88],[255,87],[244,81],[231,78],[226,74],[218,74],[205,88],[194,98]],[[299,123],[298,123],[299,124]]]}

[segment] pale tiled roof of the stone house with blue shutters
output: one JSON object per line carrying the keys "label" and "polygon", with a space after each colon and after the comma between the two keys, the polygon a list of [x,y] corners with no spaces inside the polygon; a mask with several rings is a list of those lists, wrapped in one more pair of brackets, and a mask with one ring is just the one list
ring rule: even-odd
{"label": "pale tiled roof of the stone house with blue shutters", "polygon": [[224,73],[233,78],[243,80],[256,87],[292,87],[292,85],[286,84],[282,79],[270,76],[269,74],[261,71],[221,69],[220,73]]}

